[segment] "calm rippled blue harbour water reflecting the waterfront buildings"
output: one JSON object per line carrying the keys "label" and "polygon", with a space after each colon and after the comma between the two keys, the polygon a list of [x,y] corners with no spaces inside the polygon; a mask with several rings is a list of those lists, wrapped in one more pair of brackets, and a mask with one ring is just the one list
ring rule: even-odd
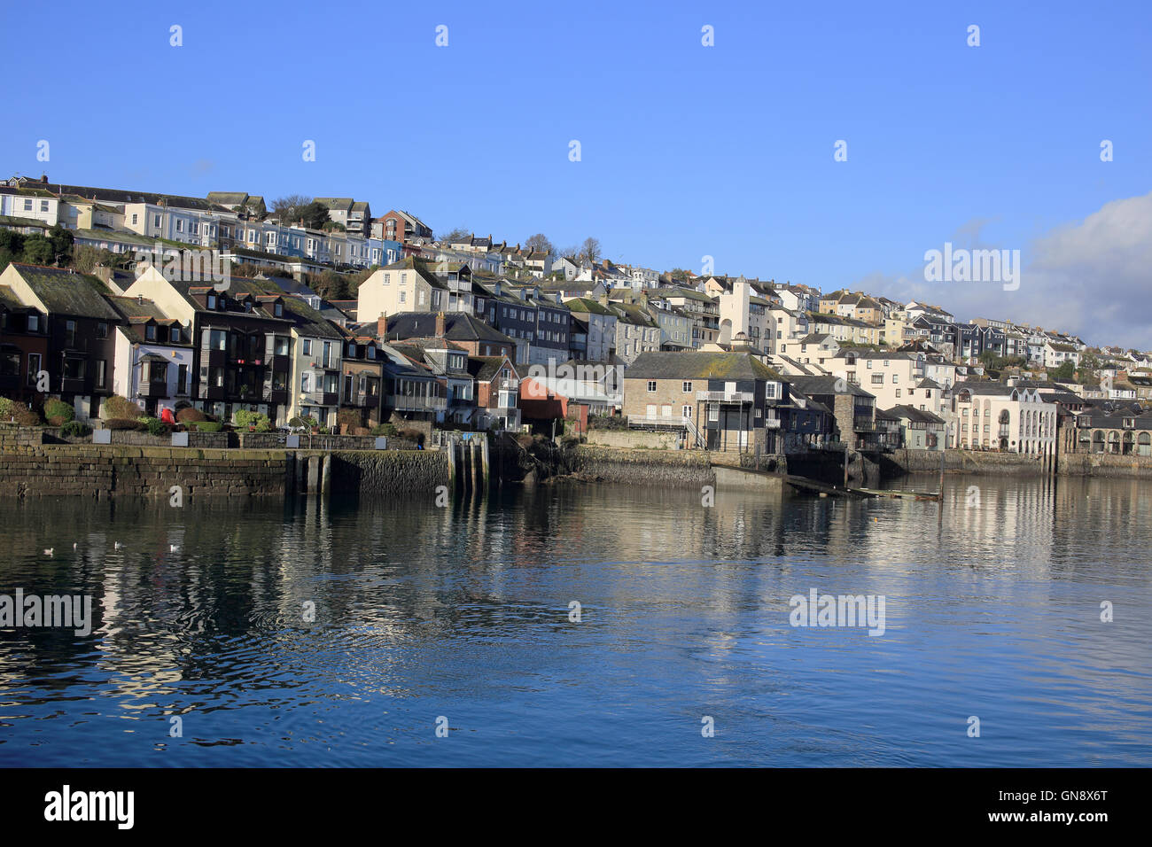
{"label": "calm rippled blue harbour water reflecting the waterfront buildings", "polygon": [[[0,765],[1152,764],[1152,483],[948,486],[6,501],[0,593],[97,622],[0,630]],[[887,632],[789,626],[811,588]]]}

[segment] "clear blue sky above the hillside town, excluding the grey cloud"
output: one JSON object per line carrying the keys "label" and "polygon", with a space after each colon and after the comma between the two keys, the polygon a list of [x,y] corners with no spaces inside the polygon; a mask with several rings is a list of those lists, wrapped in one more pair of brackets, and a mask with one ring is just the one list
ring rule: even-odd
{"label": "clear blue sky above the hillside town, excluding the grey cloud", "polygon": [[[0,161],[195,196],[353,196],[435,230],[594,235],[660,270],[708,255],[719,273],[892,294],[946,240],[1026,265],[1037,240],[1152,190],[1152,3],[793,6],[6,2],[0,28],[21,37]],[[1112,285],[1106,259],[1085,296]],[[1032,279],[971,309],[1028,319],[1052,300]],[[1152,343],[1130,317],[1104,328]]]}

